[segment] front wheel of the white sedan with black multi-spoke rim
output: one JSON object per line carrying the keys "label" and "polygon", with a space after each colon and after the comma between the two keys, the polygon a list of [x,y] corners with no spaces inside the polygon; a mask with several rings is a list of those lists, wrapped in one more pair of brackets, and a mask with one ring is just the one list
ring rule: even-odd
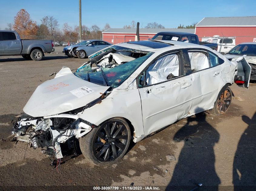
{"label": "front wheel of the white sedan with black multi-spoke rim", "polygon": [[131,140],[128,123],[120,117],[109,119],[79,139],[80,149],[91,162],[110,165],[126,153]]}

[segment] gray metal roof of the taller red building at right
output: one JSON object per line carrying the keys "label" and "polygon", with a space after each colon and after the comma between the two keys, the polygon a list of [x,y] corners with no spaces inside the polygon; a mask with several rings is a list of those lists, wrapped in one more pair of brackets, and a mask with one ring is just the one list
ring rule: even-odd
{"label": "gray metal roof of the taller red building at right", "polygon": [[196,27],[251,27],[256,26],[256,16],[251,17],[205,17]]}

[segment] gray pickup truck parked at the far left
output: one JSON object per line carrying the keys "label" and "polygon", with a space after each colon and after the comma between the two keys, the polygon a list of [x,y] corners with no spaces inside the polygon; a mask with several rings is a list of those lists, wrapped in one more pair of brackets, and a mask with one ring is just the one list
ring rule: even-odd
{"label": "gray pickup truck parked at the far left", "polygon": [[0,30],[0,56],[21,55],[39,61],[44,53],[51,52],[54,52],[52,40],[22,40],[16,31]]}

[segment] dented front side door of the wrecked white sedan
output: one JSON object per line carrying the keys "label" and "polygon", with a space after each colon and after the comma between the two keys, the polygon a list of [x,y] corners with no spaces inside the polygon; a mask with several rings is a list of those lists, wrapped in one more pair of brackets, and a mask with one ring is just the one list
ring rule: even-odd
{"label": "dented front side door of the wrecked white sedan", "polygon": [[145,135],[187,116],[192,81],[184,70],[184,63],[181,50],[168,53],[138,77]]}

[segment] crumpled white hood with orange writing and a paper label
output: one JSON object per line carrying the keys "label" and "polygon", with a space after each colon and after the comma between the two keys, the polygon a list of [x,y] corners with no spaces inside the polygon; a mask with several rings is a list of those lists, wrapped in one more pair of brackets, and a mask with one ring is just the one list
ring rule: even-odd
{"label": "crumpled white hood with orange writing and a paper label", "polygon": [[54,79],[36,88],[23,111],[33,117],[67,112],[99,98],[108,88],[82,80],[69,68],[62,68]]}

